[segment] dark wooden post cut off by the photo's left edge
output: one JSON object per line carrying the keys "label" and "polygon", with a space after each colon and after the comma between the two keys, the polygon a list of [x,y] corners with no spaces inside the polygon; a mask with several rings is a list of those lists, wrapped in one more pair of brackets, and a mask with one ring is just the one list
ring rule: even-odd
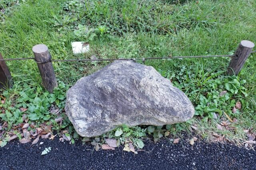
{"label": "dark wooden post cut off by the photo's left edge", "polygon": [[[0,53],[0,59],[4,59]],[[0,89],[12,87],[12,76],[5,61],[0,61]]]}

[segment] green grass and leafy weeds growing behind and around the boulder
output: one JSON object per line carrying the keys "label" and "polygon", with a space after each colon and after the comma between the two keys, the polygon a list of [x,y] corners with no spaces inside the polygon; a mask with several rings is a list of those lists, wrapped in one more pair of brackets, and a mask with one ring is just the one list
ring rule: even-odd
{"label": "green grass and leafy weeds growing behind and around the boulder", "polygon": [[[33,57],[32,47],[39,43],[48,46],[52,59],[226,55],[233,54],[241,40],[256,43],[255,0],[4,0],[0,11],[0,52],[4,58]],[[89,42],[90,52],[73,55],[73,41]],[[146,65],[153,66],[188,95],[196,115],[186,123],[153,127],[155,130],[123,127],[122,136],[131,132],[131,138],[137,140],[146,130],[158,140],[165,132],[175,136],[194,130],[209,141],[241,144],[248,140],[244,130],[256,132],[256,54],[250,55],[237,77],[225,74],[229,60],[146,60]],[[50,125],[74,143],[79,137],[63,113],[66,90],[80,77],[110,62],[54,62],[59,81],[54,94],[42,87],[34,61],[6,63],[14,86],[1,92],[0,144],[6,144],[14,134],[23,138],[22,132],[13,127],[24,122],[32,131]],[[61,125],[56,119],[59,117],[64,119]],[[228,117],[234,122],[230,123]],[[114,133],[103,137],[114,137]]]}

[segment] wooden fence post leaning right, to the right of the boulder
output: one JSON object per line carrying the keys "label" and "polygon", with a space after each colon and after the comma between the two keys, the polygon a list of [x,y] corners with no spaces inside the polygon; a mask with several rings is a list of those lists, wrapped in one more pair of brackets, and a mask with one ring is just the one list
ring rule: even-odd
{"label": "wooden fence post leaning right, to the right of the boulder", "polygon": [[228,69],[227,74],[228,75],[238,75],[238,73],[241,71],[242,67],[244,66],[244,63],[248,56],[250,55],[250,52],[252,51],[254,47],[254,43],[243,40],[238,45],[235,56],[232,57]]}

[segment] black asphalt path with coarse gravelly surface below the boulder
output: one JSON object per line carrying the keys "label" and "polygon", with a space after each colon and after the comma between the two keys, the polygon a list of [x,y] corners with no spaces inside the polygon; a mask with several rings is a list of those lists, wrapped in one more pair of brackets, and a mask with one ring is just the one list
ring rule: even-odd
{"label": "black asphalt path with coarse gravelly surface below the boulder", "polygon": [[[238,148],[231,144],[195,142],[191,146],[181,140],[171,144],[162,140],[158,144],[146,142],[144,151],[122,152],[116,150],[95,150],[91,145],[59,142],[58,139],[41,140],[43,144],[31,146],[18,141],[9,142],[0,148],[1,170],[256,170],[256,152],[253,149]],[[52,150],[41,155],[44,148]]]}

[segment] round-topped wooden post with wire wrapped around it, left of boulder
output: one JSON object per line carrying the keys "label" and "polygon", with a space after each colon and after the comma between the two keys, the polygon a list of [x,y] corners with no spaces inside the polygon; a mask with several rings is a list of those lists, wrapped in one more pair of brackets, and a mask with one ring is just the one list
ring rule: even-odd
{"label": "round-topped wooden post with wire wrapped around it, left of boulder", "polygon": [[32,48],[32,51],[43,80],[43,85],[46,90],[52,93],[54,87],[58,86],[58,83],[52,67],[51,55],[48,51],[48,47],[44,44],[38,44]]}

